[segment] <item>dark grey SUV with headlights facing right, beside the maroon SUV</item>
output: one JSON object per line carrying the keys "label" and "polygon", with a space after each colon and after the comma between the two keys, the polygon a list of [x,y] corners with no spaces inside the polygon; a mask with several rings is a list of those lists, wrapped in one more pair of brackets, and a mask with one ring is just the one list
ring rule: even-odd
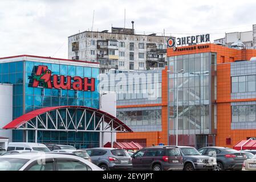
{"label": "dark grey SUV with headlights facing right, beside the maroon SUV", "polygon": [[217,166],[215,158],[210,156],[201,155],[196,148],[189,146],[173,146],[180,148],[184,171],[194,171],[194,170],[213,170]]}

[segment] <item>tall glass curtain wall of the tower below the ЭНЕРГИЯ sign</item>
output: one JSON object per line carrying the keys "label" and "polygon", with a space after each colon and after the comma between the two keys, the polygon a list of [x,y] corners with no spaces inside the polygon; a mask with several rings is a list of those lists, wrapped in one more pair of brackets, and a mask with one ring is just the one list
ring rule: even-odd
{"label": "tall glass curtain wall of the tower below the \u042d\u041d\u0415\u0420\u0413\u0418\u042f sign", "polygon": [[168,57],[169,70],[169,144],[176,144],[178,85],[178,144],[196,146],[196,135],[210,134],[211,53]]}

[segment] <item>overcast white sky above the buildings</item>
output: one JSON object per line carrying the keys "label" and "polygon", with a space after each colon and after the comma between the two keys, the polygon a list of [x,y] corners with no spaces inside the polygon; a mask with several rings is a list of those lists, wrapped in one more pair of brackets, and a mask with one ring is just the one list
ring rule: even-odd
{"label": "overcast white sky above the buildings", "polygon": [[1,0],[0,57],[21,54],[68,57],[67,37],[79,31],[131,28],[136,34],[186,36],[250,31],[256,24],[255,0]]}

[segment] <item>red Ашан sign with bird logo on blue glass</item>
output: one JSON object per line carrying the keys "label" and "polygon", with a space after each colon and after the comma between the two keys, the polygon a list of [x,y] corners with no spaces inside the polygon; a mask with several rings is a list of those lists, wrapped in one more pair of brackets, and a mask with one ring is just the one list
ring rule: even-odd
{"label": "red \u0410\u0448\u0430\u043d sign with bird logo on blue glass", "polygon": [[[35,75],[32,77],[32,87],[39,84],[48,89],[65,89],[78,91],[95,91],[95,78],[81,78],[79,76],[51,75],[51,70],[46,65],[39,65]],[[71,79],[72,78],[72,79]],[[72,80],[72,81],[71,81]]]}

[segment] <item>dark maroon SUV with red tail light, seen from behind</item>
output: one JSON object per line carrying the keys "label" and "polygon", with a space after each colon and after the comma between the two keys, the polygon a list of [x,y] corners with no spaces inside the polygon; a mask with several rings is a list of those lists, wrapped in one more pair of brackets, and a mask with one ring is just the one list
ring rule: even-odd
{"label": "dark maroon SUV with red tail light, seen from behind", "polygon": [[145,147],[132,155],[133,170],[182,170],[180,150],[176,147]]}

